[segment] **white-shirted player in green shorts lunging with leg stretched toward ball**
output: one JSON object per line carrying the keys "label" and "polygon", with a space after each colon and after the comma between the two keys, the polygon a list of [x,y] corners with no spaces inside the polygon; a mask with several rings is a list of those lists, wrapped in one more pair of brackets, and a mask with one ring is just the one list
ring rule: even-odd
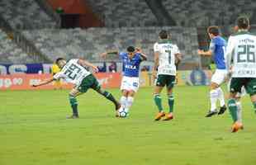
{"label": "white-shirted player in green shorts lunging with leg stretched toward ball", "polygon": [[53,78],[34,84],[33,87],[48,84],[55,80],[59,80],[59,78],[64,78],[67,82],[73,83],[74,87],[69,92],[69,102],[73,110],[73,115],[68,116],[68,119],[76,119],[79,117],[78,101],[76,97],[87,92],[89,88],[92,88],[103,97],[106,97],[107,100],[112,101],[116,106],[117,113],[117,110],[121,107],[120,103],[116,101],[115,97],[113,97],[110,92],[102,90],[97,79],[87,69],[87,67],[91,67],[95,72],[97,72],[98,70],[96,66],[83,59],[70,59],[66,62],[65,59],[59,58],[55,63],[59,68],[61,68],[60,72],[56,73]]}

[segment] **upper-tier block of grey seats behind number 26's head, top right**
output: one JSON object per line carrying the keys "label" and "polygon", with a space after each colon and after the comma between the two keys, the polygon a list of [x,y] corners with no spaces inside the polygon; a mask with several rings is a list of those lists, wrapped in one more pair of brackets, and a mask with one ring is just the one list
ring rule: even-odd
{"label": "upper-tier block of grey seats behind number 26's head, top right", "polygon": [[163,3],[178,26],[234,25],[237,16],[252,16],[256,7],[254,0],[163,0]]}

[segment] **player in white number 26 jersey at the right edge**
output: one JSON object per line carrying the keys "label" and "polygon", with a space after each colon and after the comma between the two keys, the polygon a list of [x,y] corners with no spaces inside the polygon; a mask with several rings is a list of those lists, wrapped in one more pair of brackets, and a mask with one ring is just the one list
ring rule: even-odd
{"label": "player in white number 26 jersey at the right edge", "polygon": [[238,119],[238,106],[235,96],[245,87],[250,95],[256,112],[256,35],[249,33],[249,19],[239,16],[237,19],[238,32],[231,35],[227,45],[227,64],[231,68],[230,97],[228,106],[232,116],[232,132],[243,129]]}

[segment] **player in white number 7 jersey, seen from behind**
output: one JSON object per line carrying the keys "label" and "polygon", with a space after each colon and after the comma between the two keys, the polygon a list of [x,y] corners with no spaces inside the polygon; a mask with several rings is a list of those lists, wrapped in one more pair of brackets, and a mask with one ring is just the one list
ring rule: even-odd
{"label": "player in white number 7 jersey, seen from behind", "polygon": [[[173,87],[176,77],[176,64],[178,64],[180,60],[181,54],[178,50],[178,46],[171,42],[167,31],[160,31],[159,41],[154,44],[153,77],[156,78],[154,103],[159,111],[154,120],[160,120],[162,117],[164,117],[164,120],[173,119]],[[168,94],[169,110],[167,114],[164,113],[162,97],[160,96],[164,87],[167,87]]]}

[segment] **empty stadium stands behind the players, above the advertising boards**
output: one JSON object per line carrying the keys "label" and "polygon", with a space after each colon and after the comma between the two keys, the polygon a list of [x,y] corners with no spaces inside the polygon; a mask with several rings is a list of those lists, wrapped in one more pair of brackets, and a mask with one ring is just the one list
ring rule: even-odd
{"label": "empty stadium stands behind the players, above the advertising boards", "polygon": [[254,0],[0,0],[0,63],[100,62],[98,54],[128,45],[140,46],[150,62],[159,30],[167,29],[183,53],[180,69],[206,68],[209,59],[197,55],[208,46],[206,27],[221,26],[228,36],[239,15],[256,24],[255,7]]}

